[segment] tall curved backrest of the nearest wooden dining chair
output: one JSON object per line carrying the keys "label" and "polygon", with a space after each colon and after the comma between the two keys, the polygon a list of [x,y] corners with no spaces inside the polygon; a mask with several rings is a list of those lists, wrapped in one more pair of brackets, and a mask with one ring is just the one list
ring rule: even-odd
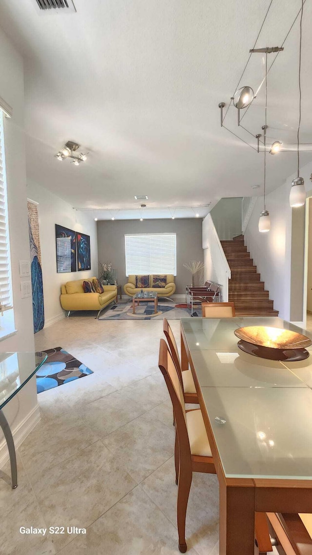
{"label": "tall curved backrest of the nearest wooden dining chair", "polygon": [[176,419],[180,457],[181,455],[186,457],[191,465],[191,449],[186,427],[186,411],[183,390],[175,363],[173,362],[168,345],[164,339],[160,340],[158,366],[165,379],[172,401],[173,412]]}

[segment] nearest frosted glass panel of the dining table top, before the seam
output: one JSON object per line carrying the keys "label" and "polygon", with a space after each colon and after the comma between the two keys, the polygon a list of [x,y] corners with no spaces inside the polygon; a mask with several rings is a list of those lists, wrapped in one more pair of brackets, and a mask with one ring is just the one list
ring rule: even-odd
{"label": "nearest frosted glass panel of the dining table top, before the seam", "polygon": [[310,388],[201,390],[227,477],[312,480]]}

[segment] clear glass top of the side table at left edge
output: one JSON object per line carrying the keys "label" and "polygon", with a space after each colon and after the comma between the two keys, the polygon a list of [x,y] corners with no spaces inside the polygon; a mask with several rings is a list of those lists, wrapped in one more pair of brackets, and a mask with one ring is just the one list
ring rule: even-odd
{"label": "clear glass top of the side table at left edge", "polygon": [[0,410],[47,359],[45,352],[0,353]]}

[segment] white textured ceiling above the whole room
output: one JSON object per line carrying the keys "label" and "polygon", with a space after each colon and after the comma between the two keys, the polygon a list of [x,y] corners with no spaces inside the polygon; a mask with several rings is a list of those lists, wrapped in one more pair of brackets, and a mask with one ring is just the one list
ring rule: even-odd
{"label": "white textured ceiling above the whole room", "polygon": [[[218,103],[228,105],[270,0],[74,3],[76,13],[40,16],[35,0],[1,0],[0,22],[25,59],[28,179],[92,209],[138,208],[134,195],[141,194],[153,209],[213,206],[222,196],[254,194],[252,185],[263,183],[263,154],[221,129]],[[311,4],[305,3],[303,28],[306,143],[312,142]],[[280,46],[300,6],[301,0],[273,0],[257,47]],[[269,73],[272,142],[296,142],[298,46],[299,18]],[[263,76],[263,55],[253,54],[241,84],[256,90]],[[242,123],[261,132],[263,87]],[[237,127],[233,105],[226,125],[255,144]],[[67,140],[90,152],[88,162],[76,167],[53,157]],[[302,165],[310,160],[311,152],[301,154]],[[295,152],[269,156],[268,190],[295,170]]]}

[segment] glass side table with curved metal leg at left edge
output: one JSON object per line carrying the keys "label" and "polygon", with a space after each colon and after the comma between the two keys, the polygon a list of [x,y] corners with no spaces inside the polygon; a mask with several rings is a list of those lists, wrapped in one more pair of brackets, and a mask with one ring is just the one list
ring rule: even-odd
{"label": "glass side table with curved metal leg at left edge", "polygon": [[13,489],[17,487],[16,452],[11,428],[2,409],[21,391],[46,359],[45,352],[0,353],[0,427],[8,446]]}

